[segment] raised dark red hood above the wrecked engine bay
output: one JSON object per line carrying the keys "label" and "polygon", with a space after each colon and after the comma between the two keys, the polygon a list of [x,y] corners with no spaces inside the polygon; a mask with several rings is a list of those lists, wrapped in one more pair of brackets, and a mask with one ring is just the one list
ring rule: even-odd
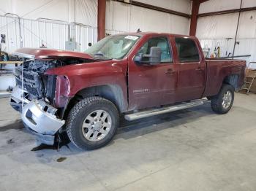
{"label": "raised dark red hood above the wrecked engine bay", "polygon": [[43,59],[51,58],[58,59],[63,57],[72,57],[72,58],[85,58],[89,60],[95,60],[83,52],[73,52],[67,50],[54,50],[48,48],[20,48],[16,50],[12,55],[18,55],[19,57],[30,58],[30,59]]}

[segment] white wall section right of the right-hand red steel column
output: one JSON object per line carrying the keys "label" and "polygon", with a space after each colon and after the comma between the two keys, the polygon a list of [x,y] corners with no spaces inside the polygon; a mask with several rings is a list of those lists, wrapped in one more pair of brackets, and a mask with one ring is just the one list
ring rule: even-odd
{"label": "white wall section right of the right-hand red steel column", "polygon": [[[199,13],[239,9],[240,4],[241,0],[206,1],[200,4]],[[255,0],[244,0],[241,4],[242,8],[255,6]],[[196,36],[202,47],[210,48],[213,53],[215,47],[219,46],[221,56],[226,56],[229,52],[233,53],[237,23],[238,12],[199,17]],[[234,55],[251,55],[238,59],[246,60],[247,64],[256,61],[256,11],[241,12],[236,42]]]}

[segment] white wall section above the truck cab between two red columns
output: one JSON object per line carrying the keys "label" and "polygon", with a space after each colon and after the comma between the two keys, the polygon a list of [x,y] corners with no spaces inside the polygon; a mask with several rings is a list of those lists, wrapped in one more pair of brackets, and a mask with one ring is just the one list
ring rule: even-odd
{"label": "white wall section above the truck cab between two red columns", "polygon": [[[189,14],[191,1],[187,0],[138,0],[146,4],[173,9]],[[159,12],[152,9],[124,4],[118,1],[107,1],[106,5],[107,33],[116,34],[118,31],[166,32],[173,34],[189,34],[189,18]]]}

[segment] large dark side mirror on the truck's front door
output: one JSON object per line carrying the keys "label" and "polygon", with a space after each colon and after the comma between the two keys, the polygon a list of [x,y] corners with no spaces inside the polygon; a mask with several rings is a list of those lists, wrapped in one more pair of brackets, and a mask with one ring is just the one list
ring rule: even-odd
{"label": "large dark side mirror on the truck's front door", "polygon": [[[146,59],[148,61],[143,61],[143,58],[148,58],[148,59]],[[149,55],[143,55],[142,53],[140,53],[135,56],[134,61],[136,63],[149,64],[152,66],[160,64],[161,63],[161,48],[160,47],[151,47]]]}

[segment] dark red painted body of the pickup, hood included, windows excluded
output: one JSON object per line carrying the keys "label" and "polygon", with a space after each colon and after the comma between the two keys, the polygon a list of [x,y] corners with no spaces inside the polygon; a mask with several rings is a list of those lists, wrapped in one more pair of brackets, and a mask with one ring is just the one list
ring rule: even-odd
{"label": "dark red painted body of the pickup, hood included, windows excluded", "polygon": [[[58,76],[56,107],[64,107],[67,100],[75,96],[80,90],[99,85],[120,87],[122,100],[125,102],[123,103],[125,109],[122,112],[127,112],[133,109],[145,109],[217,95],[223,80],[231,74],[238,74],[238,86],[241,86],[244,81],[245,61],[206,60],[195,36],[157,33],[129,35],[141,35],[141,37],[127,56],[121,60],[95,61],[90,55],[81,52],[48,49],[22,49],[22,51],[27,54],[34,54],[37,59],[64,56],[94,60],[91,63],[61,66],[45,72],[45,74]],[[133,59],[140,47],[151,37],[157,36],[165,36],[169,39],[173,62],[156,66],[135,63]],[[176,36],[195,41],[200,53],[200,61],[189,63],[178,61]]]}

